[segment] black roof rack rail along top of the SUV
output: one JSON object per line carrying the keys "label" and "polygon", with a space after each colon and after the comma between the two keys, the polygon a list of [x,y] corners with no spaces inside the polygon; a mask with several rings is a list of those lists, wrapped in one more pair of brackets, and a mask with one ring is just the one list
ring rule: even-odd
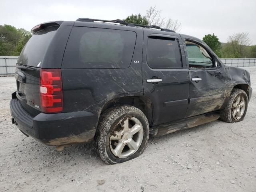
{"label": "black roof rack rail along top of the SUV", "polygon": [[102,20],[102,19],[78,18],[76,21],[82,21],[82,22],[100,21],[100,22],[103,22],[103,23],[106,23],[106,22],[119,23],[119,24],[124,24],[126,26],[131,26],[131,27],[154,28],[154,29],[160,29],[161,31],[168,31],[168,32],[174,32],[175,33],[175,31],[173,31],[173,30],[160,28],[160,26],[157,26],[157,25],[141,25],[141,24],[136,24],[136,23],[128,23],[128,22],[124,22],[124,20],[121,20],[121,19]]}

